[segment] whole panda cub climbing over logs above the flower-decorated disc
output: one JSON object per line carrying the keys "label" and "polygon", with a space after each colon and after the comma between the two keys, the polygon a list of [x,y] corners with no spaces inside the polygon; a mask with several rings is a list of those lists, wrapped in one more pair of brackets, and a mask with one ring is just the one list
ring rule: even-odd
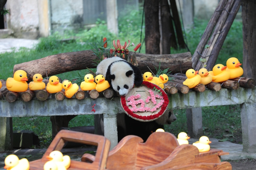
{"label": "whole panda cub climbing over logs above the flower-decorated disc", "polygon": [[102,74],[111,87],[122,96],[125,96],[133,85],[140,86],[143,81],[140,69],[120,57],[101,61],[96,74]]}

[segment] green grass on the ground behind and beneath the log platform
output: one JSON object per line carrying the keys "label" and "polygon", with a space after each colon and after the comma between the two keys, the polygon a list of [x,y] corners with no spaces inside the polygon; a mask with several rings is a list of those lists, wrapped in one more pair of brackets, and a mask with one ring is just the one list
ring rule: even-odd
{"label": "green grass on the ground behind and beneath the log platform", "polygon": [[[119,36],[116,37],[112,33],[106,31],[107,26],[104,21],[97,21],[97,26],[90,30],[82,30],[79,33],[67,31],[64,35],[54,33],[47,38],[40,38],[40,42],[35,49],[20,48],[18,52],[8,52],[0,54],[0,78],[7,79],[12,77],[13,66],[18,63],[36,60],[48,55],[55,55],[65,52],[75,52],[81,50],[91,49],[89,42],[100,40],[100,37],[108,38],[108,47],[111,47],[113,40],[119,39],[120,42],[130,40],[135,46],[140,42],[141,29],[141,11],[132,10],[128,14],[118,18],[119,22]],[[188,47],[193,55],[196,47],[201,40],[204,29],[208,21],[195,19],[195,25],[187,33]],[[144,39],[145,28],[142,28],[142,41]],[[76,37],[76,41],[69,41],[61,43],[59,40],[64,38]],[[243,37],[242,37],[242,22],[234,21],[228,36],[223,44],[220,55],[216,63],[226,65],[226,60],[230,57],[237,57],[240,62],[243,57]],[[113,47],[112,47],[113,48]],[[130,51],[133,47],[129,48]],[[141,53],[145,53],[145,43],[141,46]],[[174,50],[171,49],[172,54],[187,52],[186,49]],[[85,75],[86,70],[79,70],[81,75]],[[61,79],[72,80],[78,77],[78,71],[71,71],[57,75]],[[224,134],[235,134],[241,131],[241,118],[239,106],[218,106],[218,107],[203,107],[203,126],[204,134],[209,137],[226,138]],[[179,132],[187,132],[187,118],[185,110],[175,110],[177,120],[171,125],[166,125],[166,131],[178,135]],[[69,127],[94,125],[93,115],[79,115],[69,122]],[[32,130],[47,146],[47,142],[51,141],[51,121],[49,117],[37,117],[31,120],[31,117],[13,118],[13,130]],[[226,129],[229,129],[226,132]],[[234,140],[228,137],[230,141]]]}

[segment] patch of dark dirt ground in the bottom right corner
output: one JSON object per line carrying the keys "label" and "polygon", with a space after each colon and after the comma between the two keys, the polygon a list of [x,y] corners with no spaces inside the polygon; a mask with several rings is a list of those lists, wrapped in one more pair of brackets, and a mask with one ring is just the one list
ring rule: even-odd
{"label": "patch of dark dirt ground in the bottom right corner", "polygon": [[256,170],[256,159],[231,161],[232,170]]}

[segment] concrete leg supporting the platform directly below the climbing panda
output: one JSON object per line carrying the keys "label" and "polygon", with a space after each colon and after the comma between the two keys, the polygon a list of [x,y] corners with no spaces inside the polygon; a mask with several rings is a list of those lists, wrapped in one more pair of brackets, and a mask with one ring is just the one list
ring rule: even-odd
{"label": "concrete leg supporting the platform directly below the climbing panda", "polygon": [[104,114],[104,136],[110,140],[110,150],[112,150],[118,143],[116,115]]}

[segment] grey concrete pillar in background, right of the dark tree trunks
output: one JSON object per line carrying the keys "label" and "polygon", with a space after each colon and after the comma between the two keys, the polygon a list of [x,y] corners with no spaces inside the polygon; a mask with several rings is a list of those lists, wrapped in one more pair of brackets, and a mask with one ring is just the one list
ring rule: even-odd
{"label": "grey concrete pillar in background, right of the dark tree trunks", "polygon": [[182,19],[185,29],[194,24],[194,0],[183,0]]}

